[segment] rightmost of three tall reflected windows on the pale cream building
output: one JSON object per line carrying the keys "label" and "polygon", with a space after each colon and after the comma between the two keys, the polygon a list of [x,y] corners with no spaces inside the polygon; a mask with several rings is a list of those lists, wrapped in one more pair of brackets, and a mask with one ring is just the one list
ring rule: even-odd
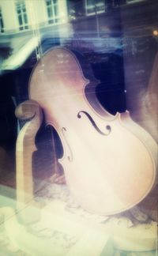
{"label": "rightmost of three tall reflected windows on the pale cream building", "polygon": [[57,23],[58,19],[58,0],[46,0],[48,24]]}

